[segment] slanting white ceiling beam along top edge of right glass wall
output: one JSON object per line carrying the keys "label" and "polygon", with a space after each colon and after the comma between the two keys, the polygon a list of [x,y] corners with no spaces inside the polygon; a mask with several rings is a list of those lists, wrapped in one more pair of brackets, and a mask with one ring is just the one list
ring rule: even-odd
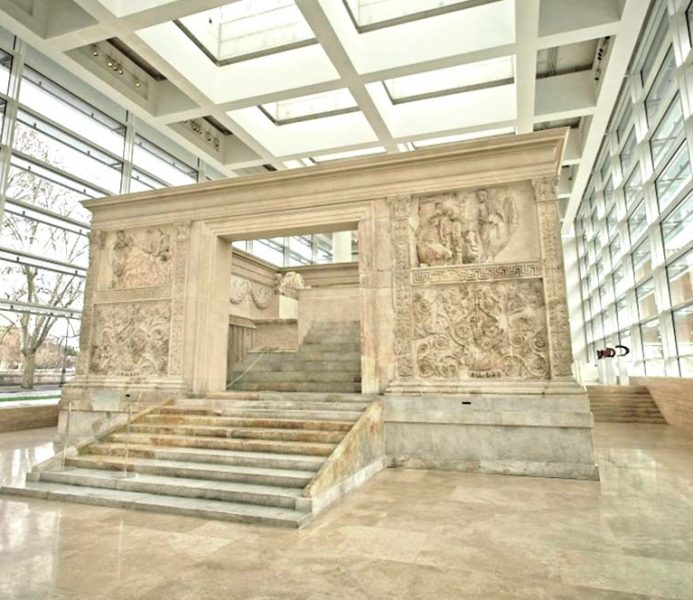
{"label": "slanting white ceiling beam along top edge of right glass wall", "polygon": [[573,181],[573,188],[563,221],[564,234],[568,234],[572,228],[575,213],[587,186],[611,112],[618,98],[618,92],[626,76],[628,64],[640,36],[640,30],[645,22],[649,5],[649,0],[628,0],[624,3],[619,31],[612,39],[608,62],[602,71],[599,98],[589,131],[585,136],[580,168]]}

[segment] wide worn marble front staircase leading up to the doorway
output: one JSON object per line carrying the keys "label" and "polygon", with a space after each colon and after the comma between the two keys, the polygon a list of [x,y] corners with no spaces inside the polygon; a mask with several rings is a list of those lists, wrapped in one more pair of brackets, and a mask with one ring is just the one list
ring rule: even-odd
{"label": "wide worn marble front staircase leading up to the doorway", "polygon": [[4,493],[300,527],[304,491],[377,396],[225,392],[144,411]]}

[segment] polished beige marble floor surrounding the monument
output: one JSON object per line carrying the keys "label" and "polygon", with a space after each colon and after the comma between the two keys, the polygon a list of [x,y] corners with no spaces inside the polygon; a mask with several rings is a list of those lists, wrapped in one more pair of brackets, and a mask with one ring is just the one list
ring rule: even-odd
{"label": "polished beige marble floor surrounding the monument", "polygon": [[[0,478],[52,435],[0,435]],[[595,444],[601,482],[390,469],[300,531],[0,496],[0,598],[693,599],[693,435]]]}

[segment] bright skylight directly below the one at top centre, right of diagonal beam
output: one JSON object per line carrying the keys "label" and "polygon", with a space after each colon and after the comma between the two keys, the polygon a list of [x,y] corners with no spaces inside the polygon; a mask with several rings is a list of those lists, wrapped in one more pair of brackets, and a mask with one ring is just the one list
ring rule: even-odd
{"label": "bright skylight directly below the one at top centre, right of diagonal beam", "polygon": [[503,56],[426,73],[405,75],[385,80],[383,84],[393,103],[397,104],[480,87],[504,85],[511,83],[513,79],[513,58]]}

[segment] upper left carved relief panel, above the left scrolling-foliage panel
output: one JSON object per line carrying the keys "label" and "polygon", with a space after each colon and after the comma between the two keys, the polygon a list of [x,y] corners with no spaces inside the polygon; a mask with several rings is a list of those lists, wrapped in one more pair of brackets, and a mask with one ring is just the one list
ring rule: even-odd
{"label": "upper left carved relief panel, above the left scrolling-foliage panel", "polygon": [[106,234],[101,288],[169,285],[174,263],[170,227],[118,230]]}

